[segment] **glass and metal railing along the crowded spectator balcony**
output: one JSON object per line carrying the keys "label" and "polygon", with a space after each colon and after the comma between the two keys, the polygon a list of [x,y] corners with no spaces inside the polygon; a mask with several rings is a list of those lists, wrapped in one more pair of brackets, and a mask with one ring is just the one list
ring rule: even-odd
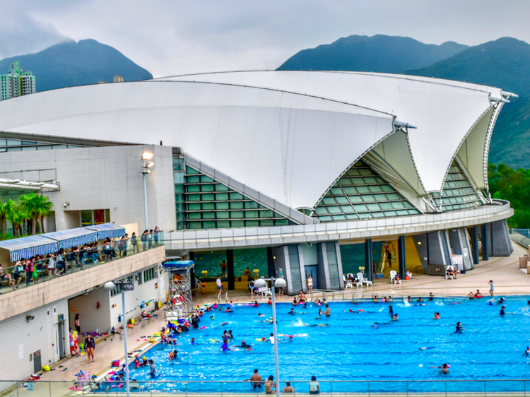
{"label": "glass and metal railing along the crowded spectator balcony", "polygon": [[[16,265],[9,266],[8,268],[4,268],[6,277],[4,278],[4,283],[2,283],[3,285],[1,285],[0,292],[5,294],[14,290],[16,287],[18,287],[17,289],[26,288],[60,277],[61,275],[83,271],[87,268],[100,266],[103,263],[163,246],[163,232],[154,234],[156,238],[153,236],[153,238],[146,241],[142,241],[141,236],[139,236],[136,244],[133,244],[133,240],[130,238],[124,240],[114,239],[110,244],[105,244],[101,240],[99,244],[88,249],[83,249],[84,246],[81,246],[81,249],[75,251],[72,249],[61,250],[54,254],[54,256],[44,256],[40,259],[34,257],[31,266],[28,261],[24,264],[20,263],[23,271],[18,274],[13,272]],[[52,269],[48,268],[50,259],[54,261],[54,268]]]}

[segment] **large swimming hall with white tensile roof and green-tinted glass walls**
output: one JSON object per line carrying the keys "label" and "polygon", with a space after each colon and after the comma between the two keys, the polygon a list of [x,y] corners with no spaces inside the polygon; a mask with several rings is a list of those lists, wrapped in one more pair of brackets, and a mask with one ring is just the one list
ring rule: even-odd
{"label": "large swimming hall with white tensile roof and green-tinted glass walls", "polygon": [[57,228],[102,210],[139,231],[156,225],[166,251],[193,259],[206,281],[226,263],[229,289],[246,288],[247,269],[282,275],[289,293],[306,290],[309,274],[338,290],[358,271],[468,271],[480,253],[512,252],[512,209],[491,198],[487,177],[512,95],[296,71],[64,88],[0,104],[0,138],[15,143],[0,155],[0,177],[53,170]]}

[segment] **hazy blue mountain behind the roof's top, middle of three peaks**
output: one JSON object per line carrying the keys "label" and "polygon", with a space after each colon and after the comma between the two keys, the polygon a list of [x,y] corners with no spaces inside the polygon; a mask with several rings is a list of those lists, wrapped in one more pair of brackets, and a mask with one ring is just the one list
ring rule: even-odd
{"label": "hazy blue mountain behind the roof's top, middle of three peaks", "polygon": [[329,45],[304,49],[278,70],[373,71],[402,73],[420,69],[458,54],[466,45],[444,42],[423,44],[411,37],[353,35]]}

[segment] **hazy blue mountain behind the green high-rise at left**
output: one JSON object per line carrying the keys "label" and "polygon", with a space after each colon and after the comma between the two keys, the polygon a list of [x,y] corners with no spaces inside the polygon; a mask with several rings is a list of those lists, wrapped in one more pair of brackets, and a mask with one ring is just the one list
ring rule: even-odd
{"label": "hazy blue mountain behind the green high-rise at left", "polygon": [[12,61],[36,76],[37,91],[73,87],[105,81],[114,75],[124,81],[139,81],[153,75],[135,64],[117,49],[92,39],[61,42],[35,54],[2,59],[0,73],[7,73]]}

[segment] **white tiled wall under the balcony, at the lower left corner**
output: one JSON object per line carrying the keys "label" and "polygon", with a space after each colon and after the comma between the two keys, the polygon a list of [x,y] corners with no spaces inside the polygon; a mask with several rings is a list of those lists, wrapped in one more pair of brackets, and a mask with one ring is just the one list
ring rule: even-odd
{"label": "white tiled wall under the balcony, at the lower left corner", "polygon": [[[59,314],[64,314],[64,348],[68,354],[70,345],[66,299],[0,321],[1,379],[23,380],[33,374],[33,352],[37,350],[40,350],[42,365],[59,360]],[[26,316],[34,316],[34,319],[27,321]]]}

